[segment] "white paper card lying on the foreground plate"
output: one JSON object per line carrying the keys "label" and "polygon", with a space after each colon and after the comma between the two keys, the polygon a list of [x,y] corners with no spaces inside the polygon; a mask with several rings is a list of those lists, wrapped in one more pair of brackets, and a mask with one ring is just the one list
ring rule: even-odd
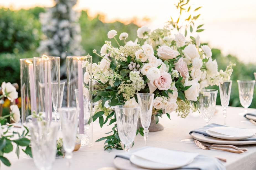
{"label": "white paper card lying on the foreground plate", "polygon": [[149,147],[136,151],[133,155],[161,164],[183,166],[191,163],[199,154]]}

